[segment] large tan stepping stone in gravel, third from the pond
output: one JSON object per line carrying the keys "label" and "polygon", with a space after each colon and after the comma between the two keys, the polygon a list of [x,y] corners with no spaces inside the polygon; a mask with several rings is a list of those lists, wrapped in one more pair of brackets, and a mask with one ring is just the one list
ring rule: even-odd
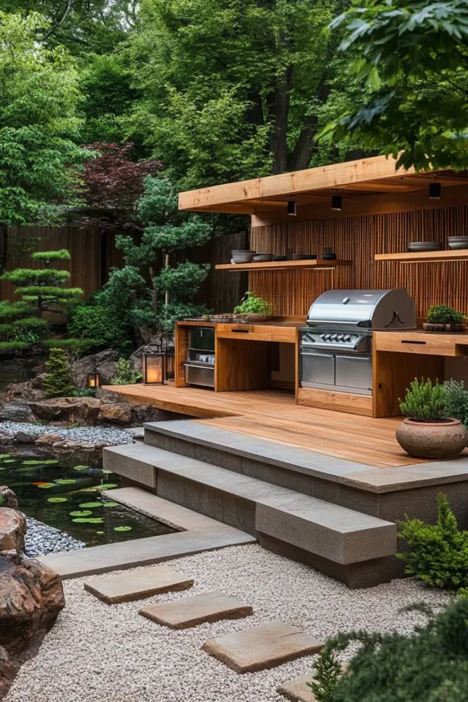
{"label": "large tan stepping stone in gravel, third from the pond", "polygon": [[319,653],[323,644],[277,620],[207,641],[202,648],[236,673],[253,673]]}

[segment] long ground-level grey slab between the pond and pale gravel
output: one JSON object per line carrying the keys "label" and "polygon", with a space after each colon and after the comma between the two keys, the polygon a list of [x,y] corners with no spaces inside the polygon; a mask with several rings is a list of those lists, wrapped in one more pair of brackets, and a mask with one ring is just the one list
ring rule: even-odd
{"label": "long ground-level grey slab between the pond and pale gravel", "polygon": [[206,533],[181,531],[179,534],[148,536],[135,541],[91,546],[79,551],[51,553],[38,560],[65,580],[152,565],[202,551],[255,542],[256,539],[244,531],[228,527],[226,524],[219,524],[218,529],[212,529]]}

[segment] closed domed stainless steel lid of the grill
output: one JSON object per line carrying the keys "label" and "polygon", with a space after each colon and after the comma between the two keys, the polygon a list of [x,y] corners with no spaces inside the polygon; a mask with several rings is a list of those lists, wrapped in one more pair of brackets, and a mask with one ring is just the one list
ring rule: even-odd
{"label": "closed domed stainless steel lid of the grill", "polygon": [[415,329],[415,303],[406,288],[329,290],[312,303],[307,324],[363,329]]}

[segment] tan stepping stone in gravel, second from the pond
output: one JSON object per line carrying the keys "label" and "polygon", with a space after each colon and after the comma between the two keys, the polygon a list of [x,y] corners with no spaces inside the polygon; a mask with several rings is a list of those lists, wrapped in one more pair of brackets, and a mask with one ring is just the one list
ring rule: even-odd
{"label": "tan stepping stone in gravel, second from the pond", "polygon": [[222,592],[203,592],[203,595],[143,607],[140,614],[171,629],[188,629],[206,621],[241,619],[253,614],[253,608]]}

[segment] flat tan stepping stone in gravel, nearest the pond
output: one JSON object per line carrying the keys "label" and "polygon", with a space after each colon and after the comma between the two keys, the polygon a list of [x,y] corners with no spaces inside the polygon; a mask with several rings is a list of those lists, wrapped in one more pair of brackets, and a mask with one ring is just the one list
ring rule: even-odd
{"label": "flat tan stepping stone in gravel, nearest the pond", "polygon": [[102,580],[88,581],[84,583],[84,589],[107,604],[116,604],[143,600],[145,597],[173,590],[188,590],[193,584],[192,578],[161,565],[147,568],[140,573],[121,573]]}

